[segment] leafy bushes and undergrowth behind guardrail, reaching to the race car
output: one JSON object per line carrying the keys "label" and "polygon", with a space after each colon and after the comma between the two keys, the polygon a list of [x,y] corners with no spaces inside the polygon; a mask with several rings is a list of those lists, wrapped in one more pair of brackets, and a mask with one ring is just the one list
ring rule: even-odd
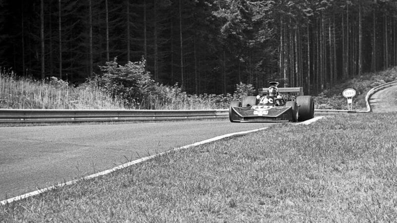
{"label": "leafy bushes and undergrowth behind guardrail, reaching to the race car", "polygon": [[224,109],[231,100],[253,95],[251,84],[236,85],[233,95],[189,95],[176,83],[173,86],[156,83],[145,69],[145,60],[120,65],[117,58],[99,66],[102,75],[95,75],[82,86],[99,87],[105,94],[124,101],[130,109]]}

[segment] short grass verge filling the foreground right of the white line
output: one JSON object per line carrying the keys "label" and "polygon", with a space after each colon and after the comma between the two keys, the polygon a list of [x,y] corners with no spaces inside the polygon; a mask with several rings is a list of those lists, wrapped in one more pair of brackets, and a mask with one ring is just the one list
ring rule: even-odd
{"label": "short grass verge filling the foreground right of the white line", "polygon": [[0,222],[394,221],[396,115],[274,125],[1,206]]}

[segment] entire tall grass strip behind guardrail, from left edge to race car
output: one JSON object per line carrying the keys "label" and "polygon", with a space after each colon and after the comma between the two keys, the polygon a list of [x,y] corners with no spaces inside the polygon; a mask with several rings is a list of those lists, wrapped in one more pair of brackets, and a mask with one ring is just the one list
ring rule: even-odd
{"label": "entire tall grass strip behind guardrail, from left edge to race car", "polygon": [[231,95],[188,95],[181,91],[167,94],[167,100],[151,97],[136,102],[107,95],[95,84],[74,87],[55,77],[38,81],[0,72],[1,109],[207,110],[227,108],[232,98]]}

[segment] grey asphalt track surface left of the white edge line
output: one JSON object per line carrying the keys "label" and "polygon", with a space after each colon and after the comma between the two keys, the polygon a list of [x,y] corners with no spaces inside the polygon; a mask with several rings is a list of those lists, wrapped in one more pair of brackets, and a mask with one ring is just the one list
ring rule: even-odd
{"label": "grey asphalt track surface left of the white edge line", "polygon": [[0,200],[131,160],[277,123],[228,119],[131,124],[0,127]]}

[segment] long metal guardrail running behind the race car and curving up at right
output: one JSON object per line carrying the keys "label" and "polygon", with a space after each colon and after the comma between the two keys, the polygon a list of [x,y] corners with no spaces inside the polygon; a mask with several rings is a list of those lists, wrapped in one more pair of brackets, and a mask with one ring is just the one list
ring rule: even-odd
{"label": "long metal guardrail running behind the race car and curving up at right", "polygon": [[[375,92],[397,85],[397,81],[381,84],[368,91],[366,111],[315,110],[315,114],[370,112],[369,98]],[[0,109],[0,122],[85,122],[85,121],[165,121],[187,119],[227,118],[227,109],[218,110],[51,110]]]}

